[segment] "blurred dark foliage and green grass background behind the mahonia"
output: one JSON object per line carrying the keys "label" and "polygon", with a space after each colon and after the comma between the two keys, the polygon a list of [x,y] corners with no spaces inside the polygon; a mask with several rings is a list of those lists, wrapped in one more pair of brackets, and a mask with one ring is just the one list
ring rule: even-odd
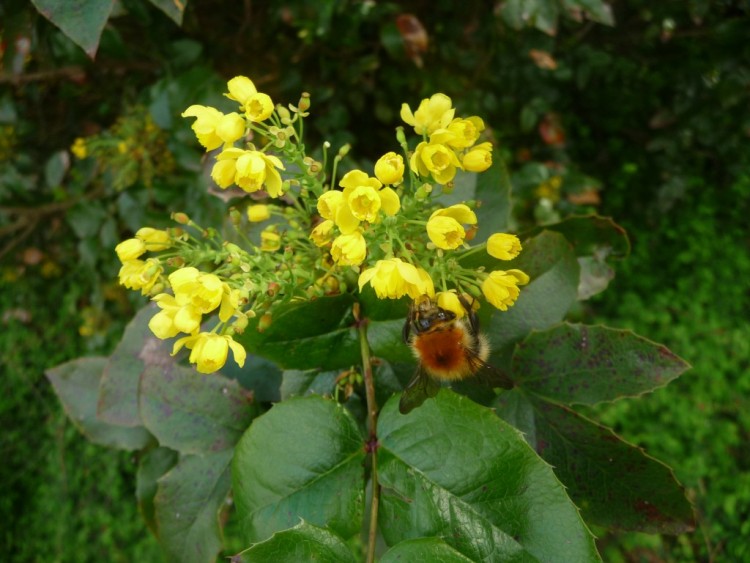
{"label": "blurred dark foliage and green grass background behind the mahonia", "polygon": [[693,365],[596,411],[674,469],[698,525],[595,529],[600,551],[750,559],[750,2],[118,0],[93,59],[41,15],[54,4],[0,6],[5,560],[161,560],[136,460],[82,439],[44,370],[110,353],[142,305],[116,283],[119,240],[172,211],[218,224],[227,204],[179,114],[228,108],[235,75],[277,102],[309,92],[309,148],[352,143],[361,166],[396,146],[402,103],[443,92],[491,129],[517,230],[592,212],[622,225],[631,256],[570,317]]}

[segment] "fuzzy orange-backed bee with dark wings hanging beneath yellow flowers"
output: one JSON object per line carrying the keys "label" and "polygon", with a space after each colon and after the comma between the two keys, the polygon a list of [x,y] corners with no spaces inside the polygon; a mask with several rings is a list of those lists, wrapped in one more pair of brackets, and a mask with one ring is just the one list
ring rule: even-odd
{"label": "fuzzy orange-backed bee with dark wings hanging beneath yellow flowers", "polygon": [[403,337],[419,365],[401,395],[402,414],[437,395],[441,382],[460,381],[480,371],[490,376],[485,380],[495,386],[513,387],[513,381],[505,373],[487,363],[490,344],[479,331],[479,318],[463,296],[459,295],[459,301],[466,311],[463,317],[438,307],[426,295],[409,306]]}

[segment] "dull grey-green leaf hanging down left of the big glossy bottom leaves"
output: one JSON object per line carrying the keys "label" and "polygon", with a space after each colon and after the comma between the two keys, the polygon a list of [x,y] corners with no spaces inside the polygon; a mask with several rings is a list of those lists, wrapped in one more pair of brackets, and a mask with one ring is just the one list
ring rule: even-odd
{"label": "dull grey-green leaf hanging down left of the big glossy bottom leaves", "polygon": [[216,560],[222,545],[219,512],[229,494],[231,459],[231,449],[184,456],[159,479],[154,505],[167,560]]}

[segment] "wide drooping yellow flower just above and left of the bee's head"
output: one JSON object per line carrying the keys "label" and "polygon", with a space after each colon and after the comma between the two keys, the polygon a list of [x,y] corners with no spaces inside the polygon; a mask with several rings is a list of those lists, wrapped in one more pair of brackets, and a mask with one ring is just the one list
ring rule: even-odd
{"label": "wide drooping yellow flower just above and left of the bee's head", "polygon": [[369,283],[379,299],[399,299],[408,295],[417,299],[422,295],[435,295],[430,275],[400,258],[378,260],[375,266],[359,275],[359,291]]}

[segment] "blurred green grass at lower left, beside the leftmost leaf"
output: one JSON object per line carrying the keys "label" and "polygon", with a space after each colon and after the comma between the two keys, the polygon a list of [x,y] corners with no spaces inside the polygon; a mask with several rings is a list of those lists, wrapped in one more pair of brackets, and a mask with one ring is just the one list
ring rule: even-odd
{"label": "blurred green grass at lower left, beside the leftmost leaf", "polygon": [[133,456],[87,442],[44,377],[107,347],[87,350],[78,333],[77,305],[91,289],[82,278],[32,268],[3,281],[0,552],[6,561],[161,561],[136,507]]}

